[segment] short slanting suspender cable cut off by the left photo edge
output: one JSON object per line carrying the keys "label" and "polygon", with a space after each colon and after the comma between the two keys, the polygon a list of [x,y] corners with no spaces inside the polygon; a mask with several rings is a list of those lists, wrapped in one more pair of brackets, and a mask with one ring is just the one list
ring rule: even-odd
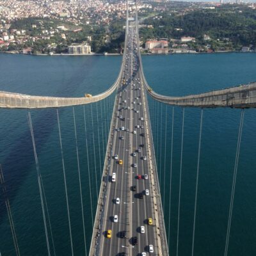
{"label": "short slanting suspender cable cut off by the left photo edge", "polygon": [[[6,186],[4,184],[4,175],[3,175],[3,170],[2,170],[1,164],[0,164],[0,183],[2,185],[6,210],[7,210],[7,214],[8,214],[8,219],[10,221],[10,228],[11,228],[11,232],[12,232],[12,239],[13,239],[13,244],[14,244],[14,247],[15,247],[15,252],[16,252],[17,256],[20,256],[19,244],[18,244],[18,240],[17,240],[15,228],[14,228],[13,219],[12,219],[11,205],[10,205],[9,199],[6,195],[6,190],[7,189],[6,189]],[[1,256],[1,253],[0,253],[0,256]]]}

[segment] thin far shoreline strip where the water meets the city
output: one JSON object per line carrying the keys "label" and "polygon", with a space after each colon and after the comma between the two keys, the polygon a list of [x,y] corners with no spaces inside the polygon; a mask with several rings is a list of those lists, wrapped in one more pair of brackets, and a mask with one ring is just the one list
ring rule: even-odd
{"label": "thin far shoreline strip where the water meets the city", "polygon": [[[214,53],[256,53],[256,51],[216,51],[216,52],[168,52],[163,54],[156,54],[156,53],[145,53],[141,52],[141,55],[148,55],[148,56],[163,56],[163,55],[176,55],[176,54],[214,54]],[[31,53],[26,54],[23,52],[15,52],[15,51],[6,51],[0,52],[0,54],[20,54],[20,55],[31,55],[31,56],[122,56],[123,54],[120,53],[89,53],[89,54],[68,54],[68,53],[54,53],[54,54],[47,54],[47,53]]]}

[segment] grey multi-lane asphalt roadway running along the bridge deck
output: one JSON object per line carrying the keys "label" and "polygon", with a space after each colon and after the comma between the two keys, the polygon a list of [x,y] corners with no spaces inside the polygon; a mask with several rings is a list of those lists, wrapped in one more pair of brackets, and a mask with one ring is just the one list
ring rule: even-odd
{"label": "grey multi-lane asphalt roadway running along the bridge deck", "polygon": [[[148,225],[147,222],[148,218],[153,218],[153,198],[152,191],[150,191],[150,173],[148,172],[148,145],[145,140],[145,136],[147,136],[146,123],[144,120],[140,120],[147,111],[145,109],[147,102],[143,102],[142,93],[144,92],[138,68],[140,67],[138,65],[138,49],[136,48],[136,29],[131,26],[127,40],[124,79],[122,79],[117,95],[118,107],[115,115],[122,115],[122,118],[116,118],[112,141],[110,186],[107,194],[102,234],[104,238],[100,244],[100,255],[133,256],[141,255],[142,252],[147,255],[157,254],[154,219],[153,225]],[[138,110],[138,113],[132,109]],[[123,118],[125,119],[123,120]],[[143,128],[137,128],[136,125],[143,125]],[[124,127],[125,130],[129,129],[129,131],[122,131],[121,127]],[[136,134],[133,131],[136,131]],[[124,140],[121,140],[121,137],[124,137]],[[138,148],[141,149],[140,153]],[[136,156],[132,156],[134,152]],[[118,164],[118,160],[114,159],[115,154],[118,154],[118,160],[122,159],[123,164]],[[146,156],[147,160],[143,160],[143,156]],[[137,167],[133,166],[134,163],[137,164]],[[111,182],[112,173],[116,173],[116,182]],[[143,179],[145,174],[148,175],[148,179]],[[138,175],[142,175],[142,179],[138,179]],[[136,191],[132,191],[131,186],[136,186]],[[145,195],[145,189],[149,190],[149,195]],[[143,198],[139,198],[140,193]],[[116,204],[116,198],[120,198],[120,204]],[[117,223],[113,221],[115,215],[118,216]],[[145,234],[141,234],[141,226],[145,227]],[[112,232],[111,238],[106,236],[108,230]],[[122,231],[127,232],[126,238],[120,237]],[[132,237],[138,238],[137,244],[132,244]],[[149,244],[153,245],[154,253],[149,253]]]}

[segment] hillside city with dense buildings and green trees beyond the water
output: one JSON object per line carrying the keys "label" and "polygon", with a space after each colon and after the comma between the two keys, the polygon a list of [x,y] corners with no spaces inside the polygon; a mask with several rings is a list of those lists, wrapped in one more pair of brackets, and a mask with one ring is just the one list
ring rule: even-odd
{"label": "hillside city with dense buildings and green trees beyond the water", "polygon": [[[134,5],[135,8],[135,5]],[[147,54],[255,51],[255,3],[140,1]],[[0,0],[0,51],[120,54],[125,1]]]}

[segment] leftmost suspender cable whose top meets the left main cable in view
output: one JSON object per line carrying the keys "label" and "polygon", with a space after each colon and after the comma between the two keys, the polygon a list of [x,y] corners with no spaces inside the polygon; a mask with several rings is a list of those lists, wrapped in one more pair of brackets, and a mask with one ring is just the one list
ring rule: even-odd
{"label": "leftmost suspender cable whose top meets the left main cable in view", "polygon": [[37,153],[36,153],[36,144],[35,144],[35,137],[34,137],[34,131],[33,131],[33,125],[32,125],[30,111],[28,111],[28,124],[29,124],[30,132],[31,132],[31,139],[32,139],[32,143],[33,143],[33,150],[34,150],[34,156],[35,156],[36,173],[37,173],[37,180],[38,180],[38,187],[39,187],[39,193],[40,193],[41,207],[42,207],[43,219],[44,219],[44,230],[45,230],[47,251],[48,251],[48,255],[50,256],[51,255],[51,250],[50,250],[50,245],[49,245],[47,224],[46,224],[46,218],[45,218],[44,199],[43,199],[42,186],[41,186],[41,180],[40,180],[40,169],[39,169],[39,163],[38,163],[38,158],[37,158]]}

